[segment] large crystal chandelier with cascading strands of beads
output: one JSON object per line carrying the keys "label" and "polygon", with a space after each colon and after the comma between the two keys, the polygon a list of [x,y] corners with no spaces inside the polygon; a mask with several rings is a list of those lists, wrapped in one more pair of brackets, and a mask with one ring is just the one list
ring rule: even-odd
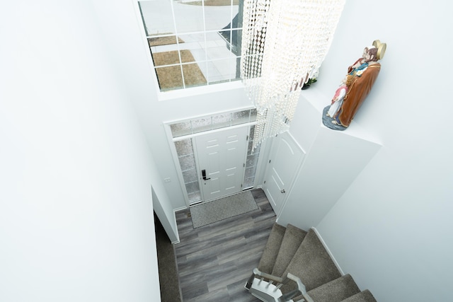
{"label": "large crystal chandelier with cascading strands of beads", "polygon": [[289,129],[328,52],[345,0],[243,0],[241,79],[258,111],[253,149]]}

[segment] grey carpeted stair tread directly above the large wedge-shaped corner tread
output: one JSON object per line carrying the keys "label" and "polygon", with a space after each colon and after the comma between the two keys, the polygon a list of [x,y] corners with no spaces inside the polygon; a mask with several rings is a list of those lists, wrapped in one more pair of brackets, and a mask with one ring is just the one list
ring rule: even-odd
{"label": "grey carpeted stair tread directly above the large wedge-shaped corner tread", "polygon": [[316,302],[341,302],[357,293],[360,293],[359,286],[355,284],[350,274],[345,274],[308,292]]}

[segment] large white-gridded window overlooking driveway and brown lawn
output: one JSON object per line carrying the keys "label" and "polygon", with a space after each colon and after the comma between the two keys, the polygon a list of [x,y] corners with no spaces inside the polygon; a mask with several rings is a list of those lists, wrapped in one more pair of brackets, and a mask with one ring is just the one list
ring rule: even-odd
{"label": "large white-gridded window overlooking driveway and brown lawn", "polygon": [[139,1],[161,91],[240,79],[239,2]]}

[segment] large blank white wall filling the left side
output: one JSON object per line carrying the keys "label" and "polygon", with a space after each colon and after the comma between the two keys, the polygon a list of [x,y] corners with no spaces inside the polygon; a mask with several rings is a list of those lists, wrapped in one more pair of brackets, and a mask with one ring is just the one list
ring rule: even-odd
{"label": "large blank white wall filling the left side", "polygon": [[160,298],[156,168],[93,12],[0,12],[0,301]]}

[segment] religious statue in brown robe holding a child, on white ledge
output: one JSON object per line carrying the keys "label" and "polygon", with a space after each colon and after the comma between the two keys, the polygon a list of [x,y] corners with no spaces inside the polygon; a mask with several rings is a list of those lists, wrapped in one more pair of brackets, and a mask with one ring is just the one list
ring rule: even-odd
{"label": "religious statue in brown robe holding a child, on white ledge", "polygon": [[[323,124],[326,127],[341,131],[349,127],[355,113],[359,110],[377,79],[381,70],[381,64],[377,61],[384,57],[385,50],[385,43],[374,40],[373,46],[365,47],[362,57],[348,67],[348,76],[343,80],[346,87],[340,86],[339,91],[337,90],[338,96],[340,96],[342,89],[344,89],[345,95],[340,100],[341,103],[332,101],[331,105],[323,110]],[[349,85],[346,84],[348,77],[352,77],[349,80]],[[336,96],[334,96],[335,98]]]}

